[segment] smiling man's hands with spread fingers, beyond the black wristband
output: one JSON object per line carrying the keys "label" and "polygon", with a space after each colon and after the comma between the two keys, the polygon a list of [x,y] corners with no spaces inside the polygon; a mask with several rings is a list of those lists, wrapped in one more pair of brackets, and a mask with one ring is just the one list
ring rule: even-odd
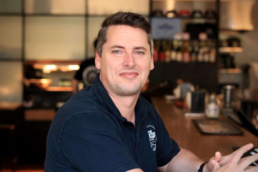
{"label": "smiling man's hands with spread fingers, beyond the black wristband", "polygon": [[252,162],[258,160],[258,154],[241,158],[244,153],[254,147],[253,144],[246,144],[240,147],[235,152],[221,156],[220,152],[216,152],[215,156],[210,159],[207,164],[207,171],[212,172],[242,172],[244,170],[248,172],[257,172],[258,167],[249,166]]}

